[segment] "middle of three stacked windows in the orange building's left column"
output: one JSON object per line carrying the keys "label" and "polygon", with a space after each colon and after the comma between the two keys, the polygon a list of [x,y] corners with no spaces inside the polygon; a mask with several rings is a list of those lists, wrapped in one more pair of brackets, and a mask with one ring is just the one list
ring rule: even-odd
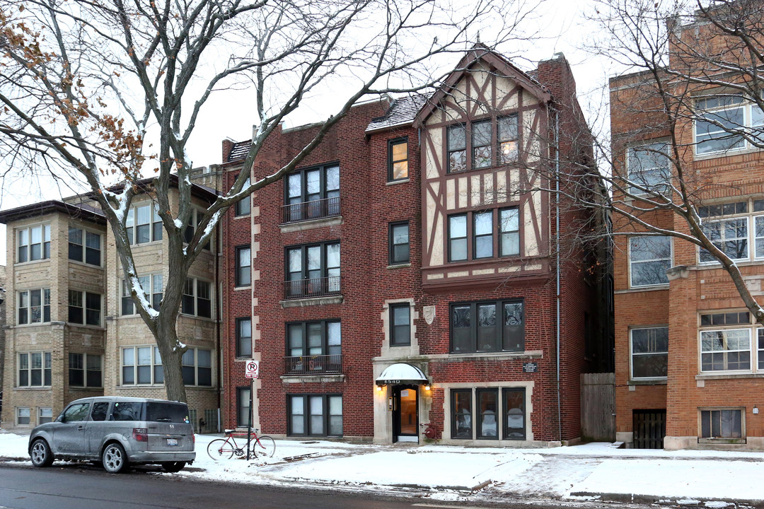
{"label": "middle of three stacked windows in the orange building's left column", "polygon": [[672,266],[672,239],[667,236],[629,237],[631,288],[668,285],[666,269]]}

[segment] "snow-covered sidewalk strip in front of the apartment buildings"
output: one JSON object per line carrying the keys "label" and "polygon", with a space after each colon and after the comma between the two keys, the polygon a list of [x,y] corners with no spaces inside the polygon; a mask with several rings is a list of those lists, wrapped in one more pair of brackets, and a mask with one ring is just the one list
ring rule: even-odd
{"label": "snow-covered sidewalk strip in front of the apartment buildings", "polygon": [[[206,447],[218,437],[198,435],[196,462],[175,475],[472,504],[522,496],[764,509],[764,453],[617,449],[610,443],[499,449],[277,440],[273,458],[215,462]],[[28,462],[27,440],[0,433],[0,459]]]}

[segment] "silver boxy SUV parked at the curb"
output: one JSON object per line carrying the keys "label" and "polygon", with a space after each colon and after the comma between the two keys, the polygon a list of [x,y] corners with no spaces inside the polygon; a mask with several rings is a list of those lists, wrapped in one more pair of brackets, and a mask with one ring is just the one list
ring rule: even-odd
{"label": "silver boxy SUV parked at the curb", "polygon": [[178,472],[196,459],[196,437],[185,403],[105,396],[72,401],[56,420],[29,437],[34,466],[86,459],[121,472],[128,463],[158,463]]}

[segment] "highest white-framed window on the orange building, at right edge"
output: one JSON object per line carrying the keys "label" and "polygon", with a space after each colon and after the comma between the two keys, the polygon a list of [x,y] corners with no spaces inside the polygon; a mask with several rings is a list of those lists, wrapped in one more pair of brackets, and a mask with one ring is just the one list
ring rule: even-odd
{"label": "highest white-framed window on the orange building, at right edge", "polygon": [[760,137],[764,115],[742,95],[715,95],[695,101],[695,153],[724,154],[750,147],[745,135]]}

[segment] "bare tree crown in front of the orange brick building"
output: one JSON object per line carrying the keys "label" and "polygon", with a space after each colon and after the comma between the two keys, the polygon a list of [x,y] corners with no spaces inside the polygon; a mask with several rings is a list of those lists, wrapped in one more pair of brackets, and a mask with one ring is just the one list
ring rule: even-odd
{"label": "bare tree crown in front of the orange brick building", "polygon": [[762,160],[764,2],[611,0],[597,4],[594,19],[604,29],[594,51],[624,70],[610,81],[613,139],[598,146],[612,168],[603,176],[611,199],[599,206],[613,215],[613,235],[632,239],[632,259],[643,262],[636,277],[668,282],[666,239],[686,241],[699,263],[720,264],[764,324],[737,263],[754,257],[755,236],[715,218],[736,207],[714,205],[720,197],[747,203],[751,181],[702,163],[740,154]]}

